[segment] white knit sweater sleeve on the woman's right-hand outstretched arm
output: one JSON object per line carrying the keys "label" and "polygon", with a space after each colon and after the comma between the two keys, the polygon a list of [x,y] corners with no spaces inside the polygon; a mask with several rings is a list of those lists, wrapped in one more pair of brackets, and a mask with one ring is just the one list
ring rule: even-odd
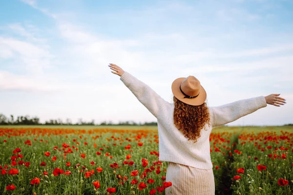
{"label": "white knit sweater sleeve on the woman's right-hand outstretched arm", "polygon": [[242,99],[229,104],[217,107],[210,107],[211,125],[213,127],[224,125],[244,117],[256,110],[266,107],[267,102],[264,96]]}

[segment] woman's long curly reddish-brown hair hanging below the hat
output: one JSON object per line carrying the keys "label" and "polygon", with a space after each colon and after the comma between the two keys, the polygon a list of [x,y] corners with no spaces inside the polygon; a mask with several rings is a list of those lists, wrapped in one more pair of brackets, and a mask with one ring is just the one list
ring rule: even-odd
{"label": "woman's long curly reddish-brown hair hanging below the hat", "polygon": [[205,128],[206,123],[209,124],[207,103],[192,106],[180,101],[175,96],[173,96],[173,100],[175,106],[173,113],[174,125],[188,138],[188,141],[192,139],[195,140],[194,143],[197,142],[201,130]]}

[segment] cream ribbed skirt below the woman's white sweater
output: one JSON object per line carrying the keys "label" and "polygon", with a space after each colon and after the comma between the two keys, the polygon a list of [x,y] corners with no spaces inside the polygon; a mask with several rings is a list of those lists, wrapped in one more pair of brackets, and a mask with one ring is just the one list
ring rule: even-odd
{"label": "cream ribbed skirt below the woman's white sweater", "polygon": [[172,186],[166,189],[166,195],[215,194],[215,181],[212,168],[198,169],[169,162],[166,181],[172,182]]}

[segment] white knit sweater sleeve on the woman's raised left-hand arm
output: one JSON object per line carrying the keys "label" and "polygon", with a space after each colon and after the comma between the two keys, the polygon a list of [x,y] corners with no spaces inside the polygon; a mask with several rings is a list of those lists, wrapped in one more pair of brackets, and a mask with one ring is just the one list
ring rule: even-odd
{"label": "white knit sweater sleeve on the woman's raised left-hand arm", "polygon": [[166,110],[170,104],[161,98],[154,90],[141,80],[135,78],[128,72],[125,72],[120,80],[128,87],[134,96],[147,108],[147,110],[156,118],[160,113]]}

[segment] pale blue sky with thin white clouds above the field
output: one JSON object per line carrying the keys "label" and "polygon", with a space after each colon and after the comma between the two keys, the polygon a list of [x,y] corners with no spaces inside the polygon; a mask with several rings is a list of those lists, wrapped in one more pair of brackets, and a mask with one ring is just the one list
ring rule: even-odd
{"label": "pale blue sky with thin white clouds above the field", "polygon": [[293,123],[292,0],[0,0],[0,113],[73,122],[156,118],[115,63],[172,103],[194,76],[209,106],[281,94],[229,125]]}

